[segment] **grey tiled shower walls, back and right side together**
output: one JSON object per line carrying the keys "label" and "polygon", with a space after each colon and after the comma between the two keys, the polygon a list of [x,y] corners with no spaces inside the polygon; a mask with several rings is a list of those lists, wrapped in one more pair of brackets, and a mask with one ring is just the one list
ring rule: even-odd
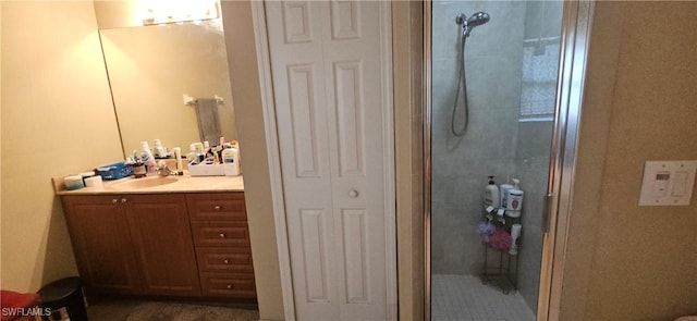
{"label": "grey tiled shower walls, back and right side together", "polygon": [[[491,20],[466,42],[469,128],[460,138],[451,133],[461,33],[455,16],[479,11]],[[526,193],[518,285],[533,308],[552,123],[519,122],[524,39],[553,36],[550,30],[558,36],[560,24],[561,2],[542,8],[541,2],[524,1],[435,1],[432,7],[431,270],[480,274],[484,246],[476,227],[487,176],[496,175],[497,184],[518,177]],[[462,100],[455,118],[464,118]]]}

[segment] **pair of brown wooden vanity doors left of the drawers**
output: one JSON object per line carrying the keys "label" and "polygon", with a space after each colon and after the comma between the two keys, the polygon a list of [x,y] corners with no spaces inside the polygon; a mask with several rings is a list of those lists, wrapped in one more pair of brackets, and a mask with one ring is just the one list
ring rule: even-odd
{"label": "pair of brown wooden vanity doors left of the drawers", "polygon": [[88,292],[200,295],[184,195],[62,196],[62,201]]}

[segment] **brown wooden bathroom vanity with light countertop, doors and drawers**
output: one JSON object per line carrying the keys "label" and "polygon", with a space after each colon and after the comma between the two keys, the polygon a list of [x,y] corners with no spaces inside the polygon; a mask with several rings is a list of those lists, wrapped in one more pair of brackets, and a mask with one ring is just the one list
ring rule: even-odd
{"label": "brown wooden bathroom vanity with light countertop, doors and drawers", "polygon": [[54,184],[87,295],[256,299],[242,176]]}

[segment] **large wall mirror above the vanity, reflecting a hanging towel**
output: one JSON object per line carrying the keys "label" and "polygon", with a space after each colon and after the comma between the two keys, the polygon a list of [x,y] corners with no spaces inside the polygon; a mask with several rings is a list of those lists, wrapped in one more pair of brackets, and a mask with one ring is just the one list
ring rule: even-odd
{"label": "large wall mirror above the vanity, reflecting a hanging towel", "polygon": [[222,20],[131,23],[133,3],[95,2],[124,155],[144,140],[186,153],[195,141],[236,139]]}

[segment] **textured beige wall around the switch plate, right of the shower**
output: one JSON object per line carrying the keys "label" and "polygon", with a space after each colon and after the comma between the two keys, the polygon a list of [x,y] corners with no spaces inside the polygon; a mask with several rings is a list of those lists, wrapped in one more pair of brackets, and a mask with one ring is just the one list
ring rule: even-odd
{"label": "textured beige wall around the switch plate, right of the shower", "polygon": [[596,8],[563,320],[697,313],[697,196],[637,206],[645,161],[697,159],[696,15],[697,2]]}

